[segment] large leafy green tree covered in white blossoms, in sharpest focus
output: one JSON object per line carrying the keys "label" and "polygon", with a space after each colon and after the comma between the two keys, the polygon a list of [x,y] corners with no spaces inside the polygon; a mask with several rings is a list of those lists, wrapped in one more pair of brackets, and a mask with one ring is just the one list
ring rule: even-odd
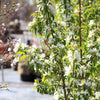
{"label": "large leafy green tree covered in white blossoms, in sharpest focus", "polygon": [[100,100],[100,1],[36,0],[30,30],[46,47],[16,54],[41,73],[37,91],[54,100]]}

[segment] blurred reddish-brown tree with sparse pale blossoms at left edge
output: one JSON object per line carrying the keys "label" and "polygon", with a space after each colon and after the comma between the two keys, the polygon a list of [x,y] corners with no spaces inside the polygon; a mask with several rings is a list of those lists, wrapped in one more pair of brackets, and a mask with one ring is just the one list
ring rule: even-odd
{"label": "blurred reddish-brown tree with sparse pale blossoms at left edge", "polygon": [[[20,4],[11,0],[0,0],[0,67],[8,64],[13,58],[13,47],[17,40],[12,40],[6,30],[11,16],[18,11]],[[7,32],[7,36],[5,36]],[[7,39],[7,43],[5,40]],[[0,88],[7,88],[7,84],[0,84]]]}

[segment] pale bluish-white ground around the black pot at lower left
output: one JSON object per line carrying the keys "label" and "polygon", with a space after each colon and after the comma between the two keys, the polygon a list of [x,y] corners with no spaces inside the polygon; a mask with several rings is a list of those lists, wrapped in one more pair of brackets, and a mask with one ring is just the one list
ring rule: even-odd
{"label": "pale bluish-white ground around the black pot at lower left", "polygon": [[12,69],[4,69],[4,79],[8,83],[8,90],[0,89],[0,100],[53,100],[52,95],[37,93],[32,82],[21,81],[17,72]]}

